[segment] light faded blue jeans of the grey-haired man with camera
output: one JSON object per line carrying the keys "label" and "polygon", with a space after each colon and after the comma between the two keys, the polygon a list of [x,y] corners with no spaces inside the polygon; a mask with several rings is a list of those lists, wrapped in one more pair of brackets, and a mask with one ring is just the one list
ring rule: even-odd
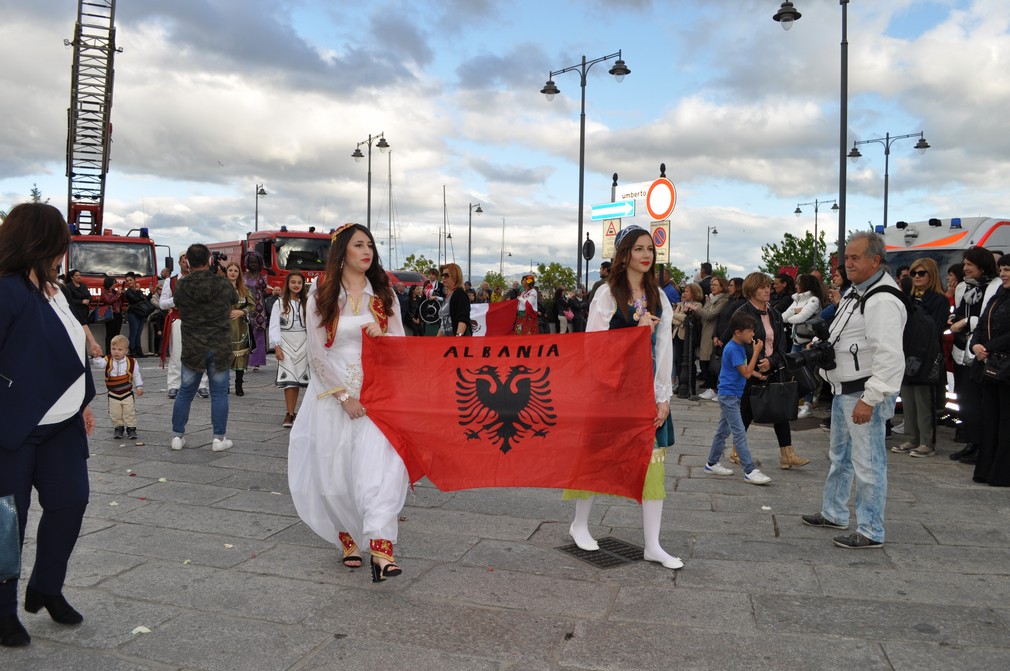
{"label": "light faded blue jeans of the grey-haired man with camera", "polygon": [[896,396],[874,408],[870,421],[852,422],[860,393],[837,394],[831,402],[831,468],[824,481],[821,514],[838,524],[848,523],[848,495],[855,480],[857,531],[884,543],[884,504],[887,502],[887,446],[884,422],[894,416]]}

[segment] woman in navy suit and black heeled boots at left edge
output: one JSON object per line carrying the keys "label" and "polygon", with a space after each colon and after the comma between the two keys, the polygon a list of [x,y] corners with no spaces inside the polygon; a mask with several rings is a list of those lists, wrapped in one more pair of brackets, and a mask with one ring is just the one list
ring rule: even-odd
{"label": "woman in navy suit and black heeled boots at left edge", "polygon": [[[60,625],[84,619],[63,587],[88,506],[95,384],[86,347],[98,351],[56,285],[69,244],[63,215],[45,203],[17,205],[0,226],[0,496],[14,496],[20,552],[32,487],[38,492],[42,515],[24,609],[45,608]],[[0,645],[7,648],[31,642],[17,617],[19,577],[0,582]],[[4,668],[16,666],[5,660]]]}

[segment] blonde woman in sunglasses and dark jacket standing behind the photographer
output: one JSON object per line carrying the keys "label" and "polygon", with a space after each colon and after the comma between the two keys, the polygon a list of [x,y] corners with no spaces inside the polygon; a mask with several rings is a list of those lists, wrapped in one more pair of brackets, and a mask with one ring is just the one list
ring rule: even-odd
{"label": "blonde woman in sunglasses and dark jacket standing behind the photographer", "polygon": [[[939,268],[928,257],[916,259],[909,269],[912,278],[912,300],[925,310],[933,321],[933,337],[940,342],[946,330],[950,303],[940,284]],[[937,352],[943,352],[943,345]],[[932,362],[924,363],[931,366]],[[942,368],[942,367],[941,367]],[[940,378],[946,378],[943,370]],[[905,415],[907,441],[891,448],[891,452],[911,457],[932,457],[936,452],[936,387],[945,379],[935,382],[912,382],[905,378],[901,383],[901,407]]]}

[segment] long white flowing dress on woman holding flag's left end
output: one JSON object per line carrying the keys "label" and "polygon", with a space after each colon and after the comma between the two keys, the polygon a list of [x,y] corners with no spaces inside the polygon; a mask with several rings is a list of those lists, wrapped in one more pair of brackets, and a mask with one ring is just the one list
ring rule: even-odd
{"label": "long white flowing dress on woman holding flag's left end", "polygon": [[[288,486],[298,516],[334,545],[339,543],[337,534],[346,532],[362,548],[373,539],[396,543],[397,517],[410,484],[403,460],[372,419],[351,419],[336,400],[338,393],[332,393],[344,387],[352,398],[361,394],[362,327],[375,321],[369,309],[371,284],[365,292],[357,315],[341,292],[336,338],[329,348],[316,314],[315,293],[309,296],[311,375],[288,445]],[[404,334],[395,299],[387,334]]]}

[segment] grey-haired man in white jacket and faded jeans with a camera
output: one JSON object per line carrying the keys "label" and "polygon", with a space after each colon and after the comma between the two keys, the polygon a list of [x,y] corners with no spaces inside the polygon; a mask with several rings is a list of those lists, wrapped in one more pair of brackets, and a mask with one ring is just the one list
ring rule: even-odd
{"label": "grey-haired man in white jacket and faded jeans with a camera", "polygon": [[[884,266],[884,237],[853,233],[845,247],[845,271],[852,288],[842,296],[828,330],[833,362],[824,362],[831,384],[831,467],[824,481],[821,511],[803,515],[809,526],[848,529],[848,496],[855,481],[855,532],[838,536],[839,548],[884,545],[887,501],[885,422],[905,374],[902,339],[907,314],[894,279]],[[887,289],[890,287],[890,289]],[[883,288],[883,289],[882,289]],[[867,294],[873,291],[872,296]]]}

